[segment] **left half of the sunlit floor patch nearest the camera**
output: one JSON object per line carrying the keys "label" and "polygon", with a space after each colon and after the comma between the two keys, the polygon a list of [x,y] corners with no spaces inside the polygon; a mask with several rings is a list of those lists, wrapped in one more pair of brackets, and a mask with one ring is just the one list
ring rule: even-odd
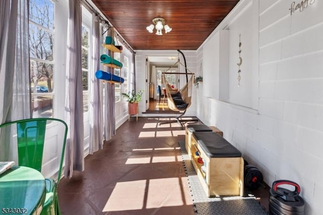
{"label": "left half of the sunlit floor patch nearest the camera", "polygon": [[102,212],[143,208],[146,180],[118,182]]}

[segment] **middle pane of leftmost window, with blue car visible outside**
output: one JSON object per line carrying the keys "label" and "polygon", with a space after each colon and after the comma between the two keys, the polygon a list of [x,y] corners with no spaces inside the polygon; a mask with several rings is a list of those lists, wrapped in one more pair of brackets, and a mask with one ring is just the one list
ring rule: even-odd
{"label": "middle pane of leftmost window, with blue car visible outside", "polygon": [[30,86],[32,93],[52,92],[52,64],[30,61]]}

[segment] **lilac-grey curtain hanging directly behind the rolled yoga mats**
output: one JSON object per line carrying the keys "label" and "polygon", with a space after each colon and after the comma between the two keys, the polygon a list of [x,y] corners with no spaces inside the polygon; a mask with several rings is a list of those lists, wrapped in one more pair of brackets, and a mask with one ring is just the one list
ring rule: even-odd
{"label": "lilac-grey curtain hanging directly behind the rolled yoga mats", "polygon": [[[115,30],[111,27],[107,31],[107,35],[115,38]],[[113,53],[108,51],[108,55]],[[114,69],[105,67],[106,72],[114,74]],[[112,83],[105,83],[104,86],[104,139],[110,140],[116,134],[116,101],[115,101],[115,85]]]}

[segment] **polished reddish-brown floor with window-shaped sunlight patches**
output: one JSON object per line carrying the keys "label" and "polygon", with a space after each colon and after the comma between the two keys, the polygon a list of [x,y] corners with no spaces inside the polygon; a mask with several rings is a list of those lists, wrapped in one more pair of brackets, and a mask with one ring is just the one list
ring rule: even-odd
{"label": "polished reddish-brown floor with window-shaped sunlight patches", "polygon": [[[178,124],[170,118],[131,118],[85,157],[84,172],[59,184],[63,214],[194,214],[178,141]],[[267,207],[268,190],[257,196]]]}

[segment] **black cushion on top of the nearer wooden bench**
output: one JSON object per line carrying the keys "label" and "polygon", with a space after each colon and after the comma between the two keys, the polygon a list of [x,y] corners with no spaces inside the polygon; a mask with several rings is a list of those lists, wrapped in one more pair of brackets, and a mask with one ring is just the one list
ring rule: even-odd
{"label": "black cushion on top of the nearer wooden bench", "polygon": [[241,157],[241,152],[214,132],[193,132],[197,143],[208,157]]}

